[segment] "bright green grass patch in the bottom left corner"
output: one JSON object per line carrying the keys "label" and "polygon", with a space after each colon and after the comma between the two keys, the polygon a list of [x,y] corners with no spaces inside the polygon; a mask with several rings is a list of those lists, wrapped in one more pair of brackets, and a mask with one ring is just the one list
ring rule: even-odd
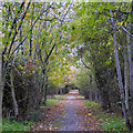
{"label": "bright green grass patch in the bottom left corner", "polygon": [[2,131],[29,131],[31,125],[33,125],[31,121],[10,122],[8,119],[2,120]]}

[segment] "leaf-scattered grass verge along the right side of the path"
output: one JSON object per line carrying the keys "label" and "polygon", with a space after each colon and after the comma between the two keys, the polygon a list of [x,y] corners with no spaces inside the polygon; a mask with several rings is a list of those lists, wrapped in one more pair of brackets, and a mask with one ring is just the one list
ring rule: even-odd
{"label": "leaf-scattered grass verge along the right side of the path", "polygon": [[100,103],[84,101],[83,104],[88,106],[92,114],[96,115],[99,124],[102,126],[103,131],[129,131],[123,117],[120,117],[114,113],[102,112]]}

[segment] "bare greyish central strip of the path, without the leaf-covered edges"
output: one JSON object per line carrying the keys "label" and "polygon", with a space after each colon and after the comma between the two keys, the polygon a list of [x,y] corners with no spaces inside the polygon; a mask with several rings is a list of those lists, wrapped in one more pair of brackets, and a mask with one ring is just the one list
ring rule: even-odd
{"label": "bare greyish central strip of the path, without the leaf-covered edges", "polygon": [[68,94],[65,100],[60,102],[64,105],[63,113],[58,115],[58,122],[60,122],[59,131],[82,131],[83,115],[78,114],[82,102],[78,100],[79,92],[72,91]]}

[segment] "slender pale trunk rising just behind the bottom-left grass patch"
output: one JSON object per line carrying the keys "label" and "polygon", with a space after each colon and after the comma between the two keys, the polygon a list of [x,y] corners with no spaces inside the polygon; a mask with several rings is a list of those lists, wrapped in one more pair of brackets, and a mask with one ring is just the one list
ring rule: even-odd
{"label": "slender pale trunk rising just behind the bottom-left grass patch", "polygon": [[14,115],[18,117],[19,111],[18,111],[18,103],[17,103],[16,92],[14,92],[13,69],[12,68],[11,68],[10,78],[11,78],[11,95],[12,95],[12,100],[13,100],[13,110],[14,110]]}

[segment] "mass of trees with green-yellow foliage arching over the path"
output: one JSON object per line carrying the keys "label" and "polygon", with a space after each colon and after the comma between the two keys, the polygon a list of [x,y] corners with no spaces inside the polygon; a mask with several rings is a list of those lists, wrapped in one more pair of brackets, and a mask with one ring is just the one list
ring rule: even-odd
{"label": "mass of trees with green-yellow foliage arching over the path", "polygon": [[[76,76],[80,92],[104,110],[121,101],[132,126],[132,10],[133,2],[3,2],[0,90],[6,113],[38,109],[48,93]],[[48,105],[54,103],[48,99]]]}

